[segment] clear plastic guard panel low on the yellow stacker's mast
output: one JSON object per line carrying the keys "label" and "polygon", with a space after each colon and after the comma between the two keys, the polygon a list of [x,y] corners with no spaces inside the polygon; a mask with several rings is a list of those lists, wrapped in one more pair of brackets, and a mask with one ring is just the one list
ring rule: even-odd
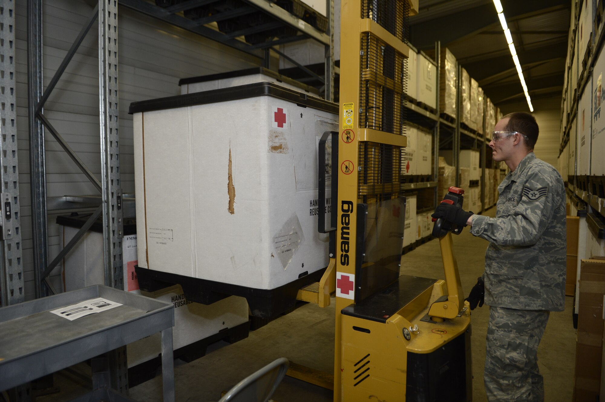
{"label": "clear plastic guard panel low on the yellow stacker's mast", "polygon": [[355,302],[399,278],[405,197],[358,204]]}

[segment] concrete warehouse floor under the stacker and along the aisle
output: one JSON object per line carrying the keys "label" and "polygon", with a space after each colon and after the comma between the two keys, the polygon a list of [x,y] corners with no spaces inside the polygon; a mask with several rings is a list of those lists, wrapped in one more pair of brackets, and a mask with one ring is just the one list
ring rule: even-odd
{"label": "concrete warehouse floor under the stacker and along the aisle", "polygon": [[[485,214],[493,216],[494,213],[495,209],[491,209]],[[465,295],[468,295],[477,277],[483,272],[487,244],[485,240],[469,234],[468,229],[463,234],[454,236],[454,252]],[[429,241],[404,255],[401,273],[443,278],[439,242]],[[332,372],[334,314],[333,304],[328,308],[306,304],[251,332],[247,339],[233,345],[222,341],[215,343],[206,356],[175,367],[176,400],[216,401],[220,398],[221,391],[231,388],[242,378],[278,357],[287,357],[292,362]],[[488,317],[489,307],[485,305],[474,310],[471,319],[474,402],[486,401],[483,362]],[[572,325],[572,298],[566,298],[566,310],[551,313],[538,351],[540,371],[545,377],[546,401],[570,401],[572,398],[575,333]],[[78,369],[87,368],[79,365]],[[73,377],[65,371],[55,375],[57,385],[60,386],[61,378],[65,376]],[[67,387],[62,389],[67,392]],[[65,396],[49,395],[38,400],[65,400]],[[130,397],[138,401],[162,401],[162,378],[156,377],[132,388]],[[273,399],[278,402],[329,402],[332,401],[332,391],[285,377]]]}

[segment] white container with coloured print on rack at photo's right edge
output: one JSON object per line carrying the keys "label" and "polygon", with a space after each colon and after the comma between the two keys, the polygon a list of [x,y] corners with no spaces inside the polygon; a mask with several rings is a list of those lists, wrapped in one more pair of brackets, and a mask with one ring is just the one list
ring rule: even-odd
{"label": "white container with coloured print on rack at photo's right edge", "polygon": [[[605,111],[602,110],[605,101],[603,88],[603,73],[605,72],[605,52],[601,51],[592,71],[592,145],[590,158],[590,174],[603,176],[605,174]],[[603,115],[601,112],[603,111]]]}

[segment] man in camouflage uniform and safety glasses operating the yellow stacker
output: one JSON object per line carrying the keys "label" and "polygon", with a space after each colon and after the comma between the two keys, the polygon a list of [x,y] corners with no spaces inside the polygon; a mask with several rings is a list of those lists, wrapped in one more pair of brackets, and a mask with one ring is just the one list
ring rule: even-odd
{"label": "man in camouflage uniform and safety glasses operating the yellow stacker", "polygon": [[[485,391],[489,401],[544,400],[537,351],[550,311],[563,311],[566,211],[563,180],[532,152],[538,125],[529,113],[506,115],[489,146],[510,173],[498,191],[496,217],[441,204],[433,217],[471,225],[489,241],[485,273],[471,290],[471,310],[490,306]],[[485,284],[485,285],[484,285]]]}

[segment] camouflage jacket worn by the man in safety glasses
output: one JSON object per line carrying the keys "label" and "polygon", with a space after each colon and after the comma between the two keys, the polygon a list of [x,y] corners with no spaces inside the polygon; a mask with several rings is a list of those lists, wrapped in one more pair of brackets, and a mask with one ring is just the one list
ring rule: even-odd
{"label": "camouflage jacket worn by the man in safety glasses", "polygon": [[520,310],[563,311],[566,212],[563,179],[529,153],[498,187],[496,217],[473,217],[485,252],[485,303]]}

